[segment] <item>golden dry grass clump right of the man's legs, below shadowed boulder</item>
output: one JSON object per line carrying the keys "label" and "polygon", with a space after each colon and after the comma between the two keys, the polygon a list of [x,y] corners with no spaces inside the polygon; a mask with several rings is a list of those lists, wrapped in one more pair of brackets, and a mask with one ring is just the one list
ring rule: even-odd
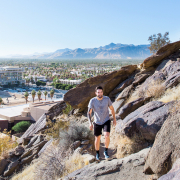
{"label": "golden dry grass clump right of the man's legs, below shadowed boulder", "polygon": [[132,138],[116,134],[113,143],[117,149],[117,158],[129,156],[130,154],[136,153],[148,146],[148,143],[139,134],[134,134]]}

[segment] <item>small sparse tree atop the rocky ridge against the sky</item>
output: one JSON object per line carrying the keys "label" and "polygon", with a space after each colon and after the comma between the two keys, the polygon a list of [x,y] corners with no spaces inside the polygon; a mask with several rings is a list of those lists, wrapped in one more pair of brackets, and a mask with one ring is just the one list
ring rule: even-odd
{"label": "small sparse tree atop the rocky ridge against the sky", "polygon": [[169,40],[169,32],[165,32],[164,36],[161,33],[153,34],[149,36],[148,41],[150,41],[150,52],[156,53],[161,47],[165,46],[166,44],[170,43]]}

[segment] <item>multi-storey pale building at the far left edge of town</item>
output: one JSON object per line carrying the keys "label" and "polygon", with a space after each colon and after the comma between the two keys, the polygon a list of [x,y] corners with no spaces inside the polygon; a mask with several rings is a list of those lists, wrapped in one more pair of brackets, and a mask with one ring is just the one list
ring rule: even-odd
{"label": "multi-storey pale building at the far left edge of town", "polygon": [[24,70],[18,66],[0,67],[0,85],[7,86],[9,84],[22,84]]}

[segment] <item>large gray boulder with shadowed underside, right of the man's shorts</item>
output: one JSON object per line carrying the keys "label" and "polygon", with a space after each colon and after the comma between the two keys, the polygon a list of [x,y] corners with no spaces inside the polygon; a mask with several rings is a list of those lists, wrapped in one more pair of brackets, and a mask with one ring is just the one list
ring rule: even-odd
{"label": "large gray boulder with shadowed underside, right of the man's shorts", "polygon": [[132,137],[140,133],[145,140],[154,141],[157,132],[170,114],[174,101],[163,103],[151,101],[117,122],[116,132]]}

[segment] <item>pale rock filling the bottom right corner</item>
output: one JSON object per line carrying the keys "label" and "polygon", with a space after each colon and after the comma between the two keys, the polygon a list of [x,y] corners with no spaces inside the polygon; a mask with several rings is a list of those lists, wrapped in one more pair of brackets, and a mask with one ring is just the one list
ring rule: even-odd
{"label": "pale rock filling the bottom right corner", "polygon": [[158,180],[179,180],[180,179],[180,158],[173,164],[172,169]]}

